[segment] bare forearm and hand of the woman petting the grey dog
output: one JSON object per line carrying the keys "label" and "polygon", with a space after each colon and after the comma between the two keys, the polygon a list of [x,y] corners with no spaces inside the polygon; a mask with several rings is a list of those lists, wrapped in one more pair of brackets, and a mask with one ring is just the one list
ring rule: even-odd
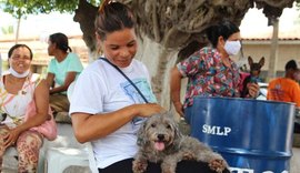
{"label": "bare forearm and hand of the woman petting the grey dog", "polygon": [[80,143],[103,138],[136,116],[150,116],[164,111],[159,104],[133,104],[114,112],[103,114],[72,113],[72,126],[74,135]]}

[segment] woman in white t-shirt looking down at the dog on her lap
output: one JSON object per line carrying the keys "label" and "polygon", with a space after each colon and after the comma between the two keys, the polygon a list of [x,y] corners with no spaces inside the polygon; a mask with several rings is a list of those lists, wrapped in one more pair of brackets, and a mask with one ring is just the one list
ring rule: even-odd
{"label": "woman in white t-shirt looking down at the dog on her lap", "polygon": [[[92,143],[100,173],[131,173],[138,151],[137,131],[146,118],[164,110],[156,103],[147,68],[133,59],[138,43],[129,8],[104,1],[96,19],[96,35],[104,60],[87,67],[74,85],[70,105],[74,135],[80,143]],[[106,60],[117,65],[149,103]],[[180,162],[178,170],[211,172],[207,163],[188,161]],[[150,163],[147,173],[150,172],[161,172],[160,165]]]}

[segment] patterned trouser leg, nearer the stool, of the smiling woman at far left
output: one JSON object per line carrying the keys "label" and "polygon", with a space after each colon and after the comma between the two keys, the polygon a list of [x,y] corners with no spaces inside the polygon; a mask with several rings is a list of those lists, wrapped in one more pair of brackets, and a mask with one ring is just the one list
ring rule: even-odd
{"label": "patterned trouser leg, nearer the stool, of the smiling woman at far left", "polygon": [[37,131],[26,131],[20,134],[17,141],[19,153],[19,172],[37,172],[39,152],[43,138]]}

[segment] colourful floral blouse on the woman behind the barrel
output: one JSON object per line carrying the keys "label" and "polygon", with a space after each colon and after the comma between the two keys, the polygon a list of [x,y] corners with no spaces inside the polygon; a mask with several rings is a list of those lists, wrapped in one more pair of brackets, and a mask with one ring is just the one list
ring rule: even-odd
{"label": "colourful floral blouse on the woman behind the barrel", "polygon": [[184,108],[192,105],[194,96],[240,96],[240,75],[231,60],[226,67],[221,55],[213,48],[203,48],[177,64],[183,77],[189,79],[184,96]]}

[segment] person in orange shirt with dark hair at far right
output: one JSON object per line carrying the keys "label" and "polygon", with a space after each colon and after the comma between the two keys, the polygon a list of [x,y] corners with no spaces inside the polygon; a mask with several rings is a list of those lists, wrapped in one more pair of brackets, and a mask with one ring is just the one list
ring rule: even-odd
{"label": "person in orange shirt with dark hair at far right", "polygon": [[[297,111],[300,110],[300,70],[294,60],[287,62],[286,74],[282,78],[269,82],[267,100],[296,103]],[[299,122],[300,123],[300,122]],[[294,132],[300,133],[300,124],[294,123]]]}

